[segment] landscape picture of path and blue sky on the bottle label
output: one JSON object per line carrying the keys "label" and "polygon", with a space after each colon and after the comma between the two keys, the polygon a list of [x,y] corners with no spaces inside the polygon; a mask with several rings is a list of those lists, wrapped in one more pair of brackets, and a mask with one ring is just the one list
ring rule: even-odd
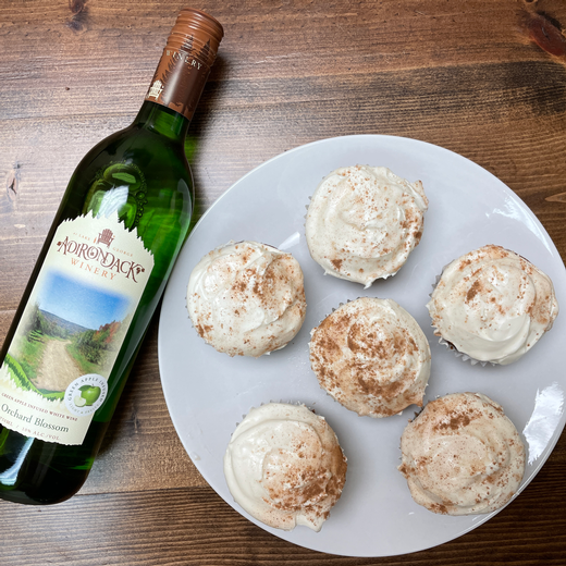
{"label": "landscape picture of path and blue sky on the bottle label", "polygon": [[[82,376],[108,379],[130,325],[131,303],[124,295],[48,271],[7,355],[11,379],[53,399],[62,399]],[[85,386],[78,396],[79,404],[91,406],[100,391]]]}

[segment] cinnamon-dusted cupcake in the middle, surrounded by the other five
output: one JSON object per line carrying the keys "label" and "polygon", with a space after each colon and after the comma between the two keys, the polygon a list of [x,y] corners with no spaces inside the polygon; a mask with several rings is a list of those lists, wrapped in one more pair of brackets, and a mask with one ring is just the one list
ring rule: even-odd
{"label": "cinnamon-dusted cupcake in the middle, surrounded by the other five", "polygon": [[422,406],[429,343],[394,300],[358,298],[311,332],[310,365],[320,386],[359,416],[380,418]]}

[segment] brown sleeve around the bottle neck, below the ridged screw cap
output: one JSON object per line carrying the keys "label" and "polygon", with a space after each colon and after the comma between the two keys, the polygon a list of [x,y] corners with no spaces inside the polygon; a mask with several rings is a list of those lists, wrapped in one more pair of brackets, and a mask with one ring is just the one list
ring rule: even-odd
{"label": "brown sleeve around the bottle neck, below the ridged screw cap", "polygon": [[146,100],[171,108],[190,120],[210,73],[209,51],[208,44],[200,50],[187,46],[186,51],[167,46]]}

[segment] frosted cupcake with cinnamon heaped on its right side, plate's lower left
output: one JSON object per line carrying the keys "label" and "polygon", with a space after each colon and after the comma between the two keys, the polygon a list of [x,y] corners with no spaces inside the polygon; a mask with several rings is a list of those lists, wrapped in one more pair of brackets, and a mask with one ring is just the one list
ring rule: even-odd
{"label": "frosted cupcake with cinnamon heaped on its right side, plate's lower left", "polygon": [[320,531],[346,481],[346,458],[323,417],[269,403],[237,426],[224,455],[234,501],[275,529]]}

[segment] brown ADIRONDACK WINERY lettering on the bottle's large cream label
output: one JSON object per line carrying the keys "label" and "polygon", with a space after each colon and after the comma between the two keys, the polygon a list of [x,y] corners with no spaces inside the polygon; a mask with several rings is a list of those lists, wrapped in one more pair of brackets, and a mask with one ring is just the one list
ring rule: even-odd
{"label": "brown ADIRONDACK WINERY lettering on the bottle's large cream label", "polygon": [[[57,246],[57,251],[63,254],[63,256],[73,256],[71,258],[73,266],[110,281],[118,274],[122,274],[125,275],[126,279],[137,283],[136,275],[146,271],[140,263],[120,259],[111,251],[103,250],[98,245],[75,242],[74,239],[70,239],[69,236],[62,242],[58,242]],[[93,266],[91,262],[97,262],[98,266]]]}

